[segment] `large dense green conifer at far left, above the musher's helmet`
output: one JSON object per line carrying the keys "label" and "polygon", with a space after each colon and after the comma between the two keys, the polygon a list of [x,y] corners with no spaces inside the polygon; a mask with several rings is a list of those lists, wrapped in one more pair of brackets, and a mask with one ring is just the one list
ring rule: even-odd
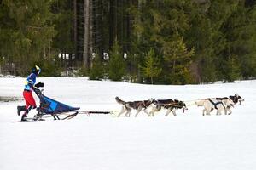
{"label": "large dense green conifer at far left, above the musher's helmet", "polygon": [[55,36],[51,26],[52,1],[3,1],[0,6],[0,51],[14,74],[26,75],[41,58],[51,56],[51,42]]}

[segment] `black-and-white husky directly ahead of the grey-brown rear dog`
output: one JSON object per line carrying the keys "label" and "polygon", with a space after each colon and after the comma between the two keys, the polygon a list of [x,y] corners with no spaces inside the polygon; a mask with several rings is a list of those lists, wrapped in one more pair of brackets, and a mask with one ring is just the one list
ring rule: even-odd
{"label": "black-and-white husky directly ahead of the grey-brown rear dog", "polygon": [[174,116],[177,116],[176,115],[177,109],[183,109],[183,112],[185,110],[188,110],[188,108],[186,107],[186,104],[183,101],[179,101],[177,99],[154,100],[154,105],[155,105],[154,108],[150,111],[150,114],[149,114],[150,116],[154,116],[154,112],[160,111],[162,108],[167,109],[165,116],[168,116],[171,111]]}

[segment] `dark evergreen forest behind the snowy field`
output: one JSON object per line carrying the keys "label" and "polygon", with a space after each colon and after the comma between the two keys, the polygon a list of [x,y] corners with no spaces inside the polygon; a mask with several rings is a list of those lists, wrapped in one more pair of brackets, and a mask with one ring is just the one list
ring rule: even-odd
{"label": "dark evergreen forest behind the snowy field", "polygon": [[256,77],[254,0],[0,0],[0,74],[152,84]]}

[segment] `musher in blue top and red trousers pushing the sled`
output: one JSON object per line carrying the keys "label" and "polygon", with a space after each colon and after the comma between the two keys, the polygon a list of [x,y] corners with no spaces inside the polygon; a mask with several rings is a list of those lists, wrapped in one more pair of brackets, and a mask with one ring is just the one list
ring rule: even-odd
{"label": "musher in blue top and red trousers pushing the sled", "polygon": [[23,115],[21,116],[21,121],[26,121],[28,112],[31,111],[32,109],[37,108],[35,99],[32,96],[32,91],[34,91],[35,89],[34,86],[37,88],[44,87],[43,82],[38,82],[36,84],[36,79],[40,74],[40,72],[41,72],[41,69],[38,67],[38,65],[35,65],[32,68],[32,73],[26,78],[25,88],[23,91],[23,97],[26,101],[26,105],[17,106],[18,116],[20,116],[20,111],[24,111]]}

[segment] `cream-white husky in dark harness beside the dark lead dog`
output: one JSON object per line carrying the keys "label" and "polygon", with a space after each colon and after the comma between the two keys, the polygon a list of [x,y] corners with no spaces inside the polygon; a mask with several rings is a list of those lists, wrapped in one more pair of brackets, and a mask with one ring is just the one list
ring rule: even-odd
{"label": "cream-white husky in dark harness beside the dark lead dog", "polygon": [[221,111],[224,111],[225,115],[227,115],[227,111],[229,111],[229,115],[232,113],[230,110],[231,106],[234,106],[235,103],[230,98],[213,98],[213,99],[201,99],[195,101],[195,105],[203,106],[204,109],[202,111],[202,115],[205,115],[205,111],[207,112],[206,115],[210,115],[210,113],[216,109],[217,114],[221,115]]}

